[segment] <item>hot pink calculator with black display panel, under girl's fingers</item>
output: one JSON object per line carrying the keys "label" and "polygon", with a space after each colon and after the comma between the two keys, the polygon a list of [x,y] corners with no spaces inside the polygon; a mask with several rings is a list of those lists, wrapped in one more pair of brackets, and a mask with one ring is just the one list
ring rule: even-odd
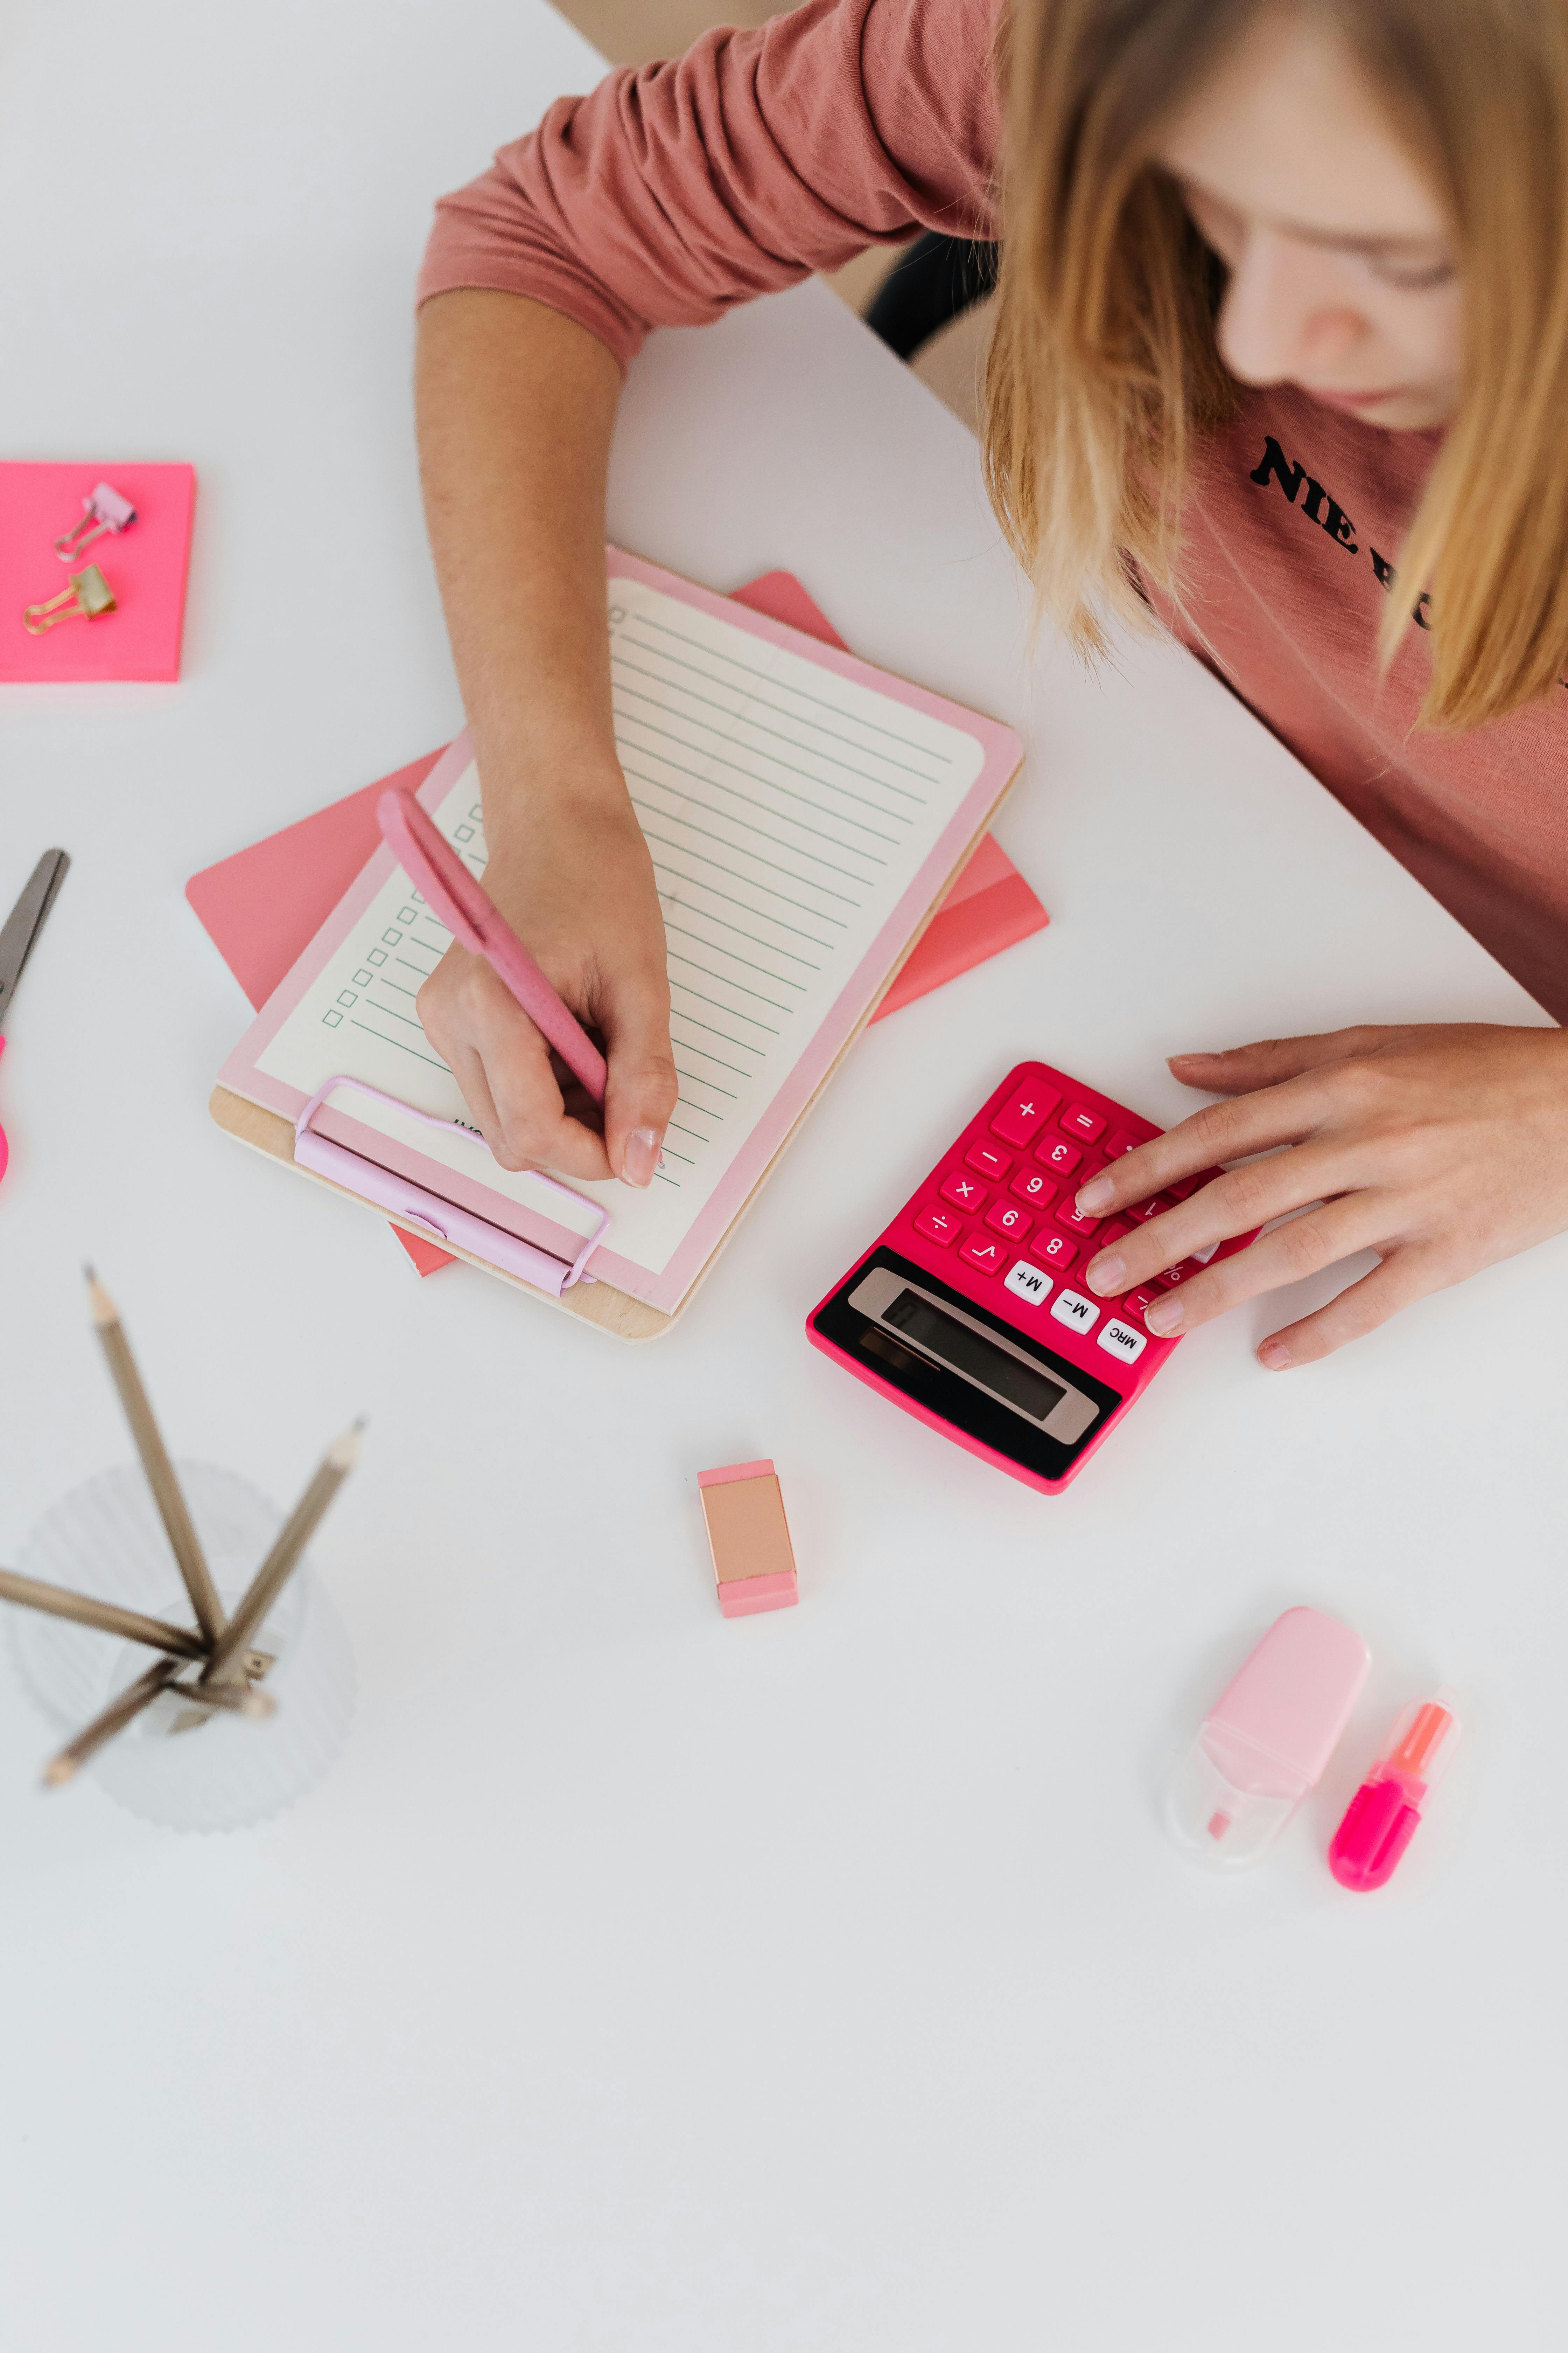
{"label": "hot pink calculator with black display panel, under girl's fingers", "polygon": [[1220,1174],[1185,1176],[1175,1195],[1112,1219],[1079,1217],[1079,1186],[1157,1134],[1065,1071],[1020,1061],[811,1311],[806,1337],[905,1414],[1056,1494],[1180,1346],[1180,1334],[1157,1339],[1143,1311],[1194,1261],[1126,1299],[1079,1287],[1131,1219]]}

